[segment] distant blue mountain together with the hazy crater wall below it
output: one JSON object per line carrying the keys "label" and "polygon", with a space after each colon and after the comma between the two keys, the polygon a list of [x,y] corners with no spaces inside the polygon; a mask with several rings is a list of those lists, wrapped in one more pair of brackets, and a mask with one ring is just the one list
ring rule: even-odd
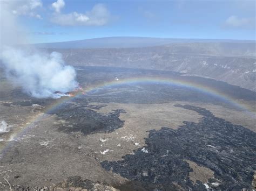
{"label": "distant blue mountain together with the hazy crater wall below it", "polygon": [[253,40],[107,37],[36,44],[62,53],[73,66],[106,66],[169,70],[210,77],[256,91]]}

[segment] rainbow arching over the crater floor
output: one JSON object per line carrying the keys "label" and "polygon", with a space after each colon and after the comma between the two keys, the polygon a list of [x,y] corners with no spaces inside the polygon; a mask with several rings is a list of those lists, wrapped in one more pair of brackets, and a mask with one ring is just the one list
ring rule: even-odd
{"label": "rainbow arching over the crater floor", "polygon": [[[107,88],[118,88],[119,86],[125,85],[125,84],[130,84],[130,85],[137,85],[137,84],[165,84],[169,86],[178,86],[178,87],[185,87],[185,88],[190,88],[193,90],[197,90],[202,94],[205,95],[211,95],[216,98],[219,98],[221,101],[233,105],[235,108],[242,110],[244,112],[247,112],[248,115],[252,116],[255,118],[255,111],[252,111],[248,105],[243,104],[241,101],[236,100],[235,98],[226,95],[224,93],[221,93],[217,89],[210,88],[205,86],[204,84],[199,84],[191,81],[185,81],[182,79],[169,79],[169,78],[160,78],[160,77],[132,77],[132,78],[127,78],[127,79],[122,79],[122,80],[112,80],[112,81],[107,81],[107,82],[102,82],[98,84],[93,84],[91,86],[87,86],[86,88],[76,91],[75,95],[73,96],[66,96],[62,98],[58,98],[53,104],[49,105],[47,108],[45,108],[45,113],[49,111],[53,111],[58,107],[61,107],[64,103],[72,101],[76,97],[82,96],[82,95],[88,95],[90,96],[90,93],[92,91],[98,90],[98,89],[107,89]],[[36,121],[41,121],[44,118],[44,114],[38,114],[36,117],[33,117],[33,119],[26,123],[27,125],[21,128],[22,130],[19,132],[16,132],[13,137],[13,140],[18,139],[19,137],[22,137],[23,135],[28,132],[30,128],[33,128],[35,126]],[[10,146],[10,144],[9,144]],[[5,146],[4,150],[6,150],[7,147]],[[4,151],[2,150],[2,151]]]}

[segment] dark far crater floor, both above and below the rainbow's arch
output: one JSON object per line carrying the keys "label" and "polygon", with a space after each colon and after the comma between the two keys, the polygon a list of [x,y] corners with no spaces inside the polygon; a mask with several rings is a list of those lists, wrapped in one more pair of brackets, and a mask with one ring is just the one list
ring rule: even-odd
{"label": "dark far crater floor, both above and below the rainbow's arch", "polygon": [[[0,71],[1,72],[1,71]],[[89,102],[117,102],[117,103],[165,103],[171,101],[203,102],[223,107],[240,109],[235,107],[229,98],[215,96],[207,89],[216,90],[220,95],[228,95],[234,100],[255,101],[256,93],[228,83],[205,79],[203,77],[182,76],[180,73],[150,70],[150,69],[131,69],[118,67],[83,67],[79,66],[76,70],[77,81],[84,89],[92,87],[92,91],[86,91],[84,101]],[[146,77],[156,79],[154,83],[125,83],[118,86],[98,87],[99,84],[114,81],[115,77],[119,80]],[[192,87],[175,86],[174,84],[158,83],[158,78],[174,81],[185,81],[188,84],[197,84],[199,87],[207,87],[205,91],[200,91]],[[128,80],[129,81],[129,80]],[[197,86],[196,85],[196,86]],[[93,87],[98,87],[93,89]],[[224,99],[223,99],[224,98]],[[0,89],[0,100],[11,103],[3,103],[5,106],[21,105],[31,106],[39,104],[42,106],[51,105],[55,102],[52,98],[32,98],[24,93],[21,87],[14,89]],[[231,99],[232,100],[232,99]]]}

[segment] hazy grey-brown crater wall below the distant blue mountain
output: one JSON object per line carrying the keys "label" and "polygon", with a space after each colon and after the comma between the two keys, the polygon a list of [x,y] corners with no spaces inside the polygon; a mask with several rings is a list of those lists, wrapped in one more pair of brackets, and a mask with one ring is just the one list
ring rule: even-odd
{"label": "hazy grey-brown crater wall below the distant blue mountain", "polygon": [[137,48],[48,48],[73,66],[169,70],[256,91],[255,44],[181,43]]}

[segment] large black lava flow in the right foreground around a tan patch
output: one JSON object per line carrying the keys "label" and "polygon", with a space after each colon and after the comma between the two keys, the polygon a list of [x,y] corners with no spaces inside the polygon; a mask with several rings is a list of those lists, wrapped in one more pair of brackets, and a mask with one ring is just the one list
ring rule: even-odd
{"label": "large black lava flow in the right foreground around a tan patch", "polygon": [[[184,122],[179,129],[151,130],[142,148],[127,154],[120,161],[103,161],[102,166],[132,182],[124,189],[205,190],[203,182],[189,179],[192,169],[184,160],[214,171],[208,185],[213,189],[251,188],[256,170],[256,133],[215,117],[210,111],[191,105],[176,105],[198,112],[199,123]],[[211,183],[219,185],[211,185]],[[204,182],[205,183],[205,182]]]}

